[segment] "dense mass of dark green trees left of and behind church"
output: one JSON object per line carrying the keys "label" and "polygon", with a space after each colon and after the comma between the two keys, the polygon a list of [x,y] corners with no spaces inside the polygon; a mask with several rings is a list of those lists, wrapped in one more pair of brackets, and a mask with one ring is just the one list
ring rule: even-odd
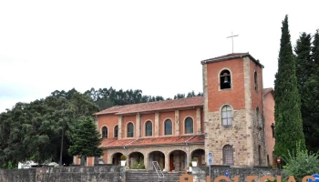
{"label": "dense mass of dark green trees left of and behind church", "polygon": [[[190,96],[197,96],[191,93]],[[30,103],[18,102],[0,113],[0,167],[17,167],[18,162],[26,160],[58,163],[62,136],[63,164],[71,164],[73,157],[67,151],[73,145],[70,128],[79,118],[110,106],[160,100],[164,98],[143,96],[139,89],[124,91],[110,87],[91,88],[84,93],[75,88],[55,90],[50,96]]]}

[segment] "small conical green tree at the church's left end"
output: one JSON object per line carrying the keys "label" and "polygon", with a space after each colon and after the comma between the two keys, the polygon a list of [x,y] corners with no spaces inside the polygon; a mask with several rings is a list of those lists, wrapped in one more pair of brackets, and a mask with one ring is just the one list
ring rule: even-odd
{"label": "small conical green tree at the church's left end", "polygon": [[[90,116],[82,116],[71,134],[72,145],[68,152],[72,156],[78,156],[85,161],[87,157],[99,157],[103,155],[103,149],[98,147],[102,141],[94,120]],[[84,163],[86,164],[86,162]]]}

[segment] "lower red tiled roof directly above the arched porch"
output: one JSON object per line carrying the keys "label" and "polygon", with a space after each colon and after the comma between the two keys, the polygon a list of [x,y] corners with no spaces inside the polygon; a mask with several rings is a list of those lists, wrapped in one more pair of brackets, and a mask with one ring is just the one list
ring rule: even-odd
{"label": "lower red tiled roof directly above the arched porch", "polygon": [[157,146],[157,145],[170,145],[170,144],[192,144],[204,143],[204,136],[164,136],[164,137],[149,137],[139,139],[114,139],[112,142],[104,142],[109,140],[104,139],[99,147],[139,147],[139,146]]}

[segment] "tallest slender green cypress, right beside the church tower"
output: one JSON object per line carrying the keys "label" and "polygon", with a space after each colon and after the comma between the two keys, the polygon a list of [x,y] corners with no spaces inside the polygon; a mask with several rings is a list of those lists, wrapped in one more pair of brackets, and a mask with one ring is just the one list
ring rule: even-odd
{"label": "tallest slender green cypress, right beside the church tower", "polygon": [[298,143],[302,149],[305,149],[305,144],[288,15],[282,23],[278,71],[274,80],[274,153],[276,157],[284,158],[288,157],[288,151],[295,154]]}

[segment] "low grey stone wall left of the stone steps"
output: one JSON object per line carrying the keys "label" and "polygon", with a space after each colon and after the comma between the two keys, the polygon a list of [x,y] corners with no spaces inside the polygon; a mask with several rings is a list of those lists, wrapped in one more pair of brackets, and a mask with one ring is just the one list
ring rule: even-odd
{"label": "low grey stone wall left of the stone steps", "polygon": [[28,169],[0,170],[1,182],[104,182],[125,181],[121,167],[39,167]]}

